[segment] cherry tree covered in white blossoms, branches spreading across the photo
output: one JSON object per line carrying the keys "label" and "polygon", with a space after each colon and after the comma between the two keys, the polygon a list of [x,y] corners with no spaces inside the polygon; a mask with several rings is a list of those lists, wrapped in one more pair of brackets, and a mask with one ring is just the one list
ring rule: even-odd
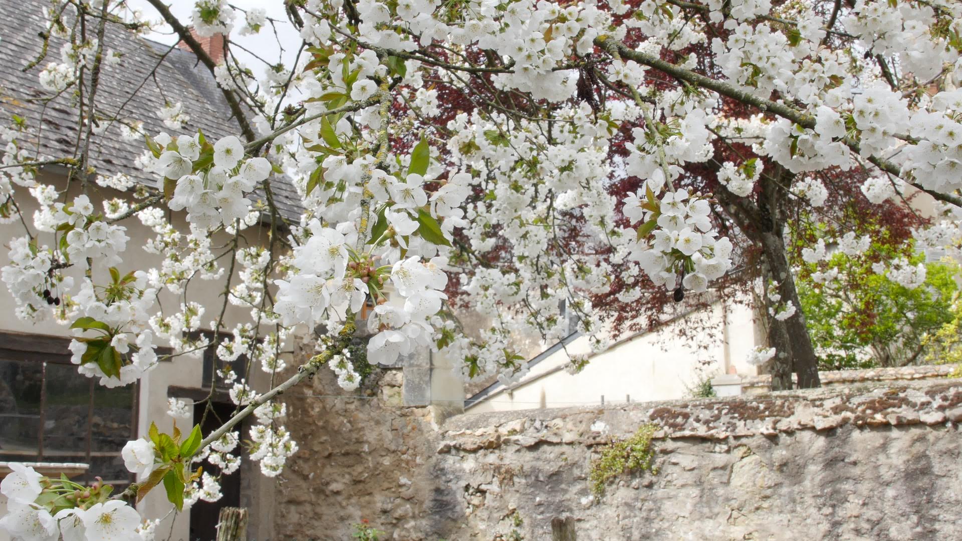
{"label": "cherry tree covered in white blossoms, branches spreading across the photo", "polygon": [[[820,209],[836,193],[880,208],[924,198],[935,212],[905,239],[958,255],[962,6],[949,0],[300,0],[285,3],[289,21],[221,0],[198,1],[180,21],[161,0],[149,3],[156,13],[122,0],[45,10],[39,39],[63,48],[55,58],[44,47],[38,81],[70,96],[78,137],[71,155],[51,156],[38,150],[50,137],[38,126],[13,118],[2,128],[2,215],[24,226],[3,280],[17,317],[63,322],[78,372],[101,385],[153,370],[161,343],[173,354],[210,347],[224,361],[243,357],[272,385],[257,392],[219,371],[212,393],[227,388],[235,415],[209,434],[152,425],[123,451],[144,480],[119,495],[15,471],[3,482],[13,504],[0,526],[25,539],[129,538],[150,525],[139,526],[127,502],[159,486],[178,509],[216,500],[217,478],[199,466],[235,471],[236,428],[252,414],[248,459],[278,475],[297,451],[278,396],[325,365],[357,388],[348,351],[362,332],[372,334],[371,362],[392,366],[430,348],[466,377],[515,380],[526,366],[514,336],[560,340],[574,313],[603,349],[605,299],[697,301],[760,263],[741,280],[769,317],[769,345],[752,360],[774,363],[776,388],[791,387],[791,372],[811,387],[818,372],[790,252],[815,264],[831,247],[865,252],[872,233],[792,238],[796,209],[832,219]],[[108,117],[98,90],[118,68],[106,28],[142,32],[154,17],[212,72],[235,134],[180,131],[189,115],[176,103],[157,112],[175,135]],[[299,33],[297,59],[259,77],[234,51],[278,24]],[[191,28],[228,36],[222,61]],[[156,193],[91,167],[103,121],[142,139],[136,160],[158,179]],[[38,169],[55,164],[79,195],[38,181]],[[300,194],[300,219],[274,200],[282,175]],[[131,196],[101,212],[93,185]],[[18,210],[28,197],[40,208],[33,217]],[[155,234],[143,248],[164,258],[160,267],[138,267],[125,225],[135,219]],[[265,223],[266,242],[248,243],[244,231]],[[230,241],[215,245],[215,235]],[[919,283],[899,259],[876,264],[905,287]],[[223,306],[185,293],[191,280],[235,271],[241,282],[227,280]],[[162,291],[183,302],[161,307]],[[491,325],[466,332],[455,296]],[[368,301],[375,307],[359,320]],[[249,321],[228,328],[228,303],[248,309]],[[205,337],[196,331],[211,313]],[[298,324],[326,334],[314,357],[285,372],[281,351]],[[173,400],[171,416],[185,407]]]}

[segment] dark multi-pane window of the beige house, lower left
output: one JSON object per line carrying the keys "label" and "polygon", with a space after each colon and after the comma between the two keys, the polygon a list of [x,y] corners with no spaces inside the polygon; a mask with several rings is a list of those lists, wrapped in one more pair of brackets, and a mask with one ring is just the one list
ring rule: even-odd
{"label": "dark multi-pane window of the beige house, lower left", "polygon": [[77,374],[68,344],[0,332],[0,460],[83,462],[86,482],[126,485],[120,450],[137,437],[138,387],[107,389]]}

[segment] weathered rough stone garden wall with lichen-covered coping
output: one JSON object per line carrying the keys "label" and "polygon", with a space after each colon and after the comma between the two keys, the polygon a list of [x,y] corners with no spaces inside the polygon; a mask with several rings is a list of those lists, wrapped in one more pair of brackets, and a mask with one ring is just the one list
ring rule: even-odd
{"label": "weathered rough stone garden wall with lichen-covered coping", "polygon": [[[318,374],[307,394],[330,395]],[[400,407],[398,372],[364,399],[288,397],[301,451],[277,539],[962,538],[962,381],[927,380],[607,408],[460,415]],[[295,394],[301,391],[295,391]],[[601,446],[639,426],[657,475],[596,498]]]}

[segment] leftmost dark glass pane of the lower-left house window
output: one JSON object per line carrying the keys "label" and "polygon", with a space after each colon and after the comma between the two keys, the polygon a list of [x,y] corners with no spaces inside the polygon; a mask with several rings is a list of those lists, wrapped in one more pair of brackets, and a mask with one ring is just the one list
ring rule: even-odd
{"label": "leftmost dark glass pane of the lower-left house window", "polygon": [[0,458],[35,461],[42,364],[0,359]]}

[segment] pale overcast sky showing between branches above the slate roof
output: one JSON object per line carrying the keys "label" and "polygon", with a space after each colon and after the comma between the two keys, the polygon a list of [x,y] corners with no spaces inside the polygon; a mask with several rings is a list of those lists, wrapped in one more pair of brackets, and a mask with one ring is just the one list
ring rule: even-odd
{"label": "pale overcast sky showing between branches above the slate roof", "polygon": [[[177,16],[181,22],[190,25],[190,12],[193,9],[194,0],[165,0],[165,2],[170,6],[170,11]],[[159,20],[161,18],[157,10],[147,3],[146,0],[128,0],[127,4],[134,9],[141,10],[148,19]],[[294,56],[297,53],[297,46],[300,44],[300,37],[297,35],[297,31],[291,23],[288,22],[287,14],[284,12],[284,2],[281,0],[269,2],[265,0],[233,0],[231,4],[244,10],[262,8],[266,10],[268,17],[278,19],[279,22],[275,23],[278,31],[277,37],[274,36],[274,32],[269,25],[262,28],[259,34],[240,36],[238,30],[243,26],[244,18],[243,13],[238,12],[238,16],[234,19],[234,32],[231,33],[231,39],[237,40],[241,45],[254,51],[267,62],[276,63],[279,59],[283,60],[284,64],[290,69]],[[283,59],[278,56],[280,53],[278,37],[280,39],[280,46],[283,46],[285,49]],[[179,40],[168,26],[165,26],[165,33],[155,32],[152,35],[148,35],[148,38],[168,44],[173,44]],[[237,47],[234,48],[233,52],[241,59],[241,62],[244,62],[254,70],[258,78],[264,76],[263,63],[258,62]]]}

